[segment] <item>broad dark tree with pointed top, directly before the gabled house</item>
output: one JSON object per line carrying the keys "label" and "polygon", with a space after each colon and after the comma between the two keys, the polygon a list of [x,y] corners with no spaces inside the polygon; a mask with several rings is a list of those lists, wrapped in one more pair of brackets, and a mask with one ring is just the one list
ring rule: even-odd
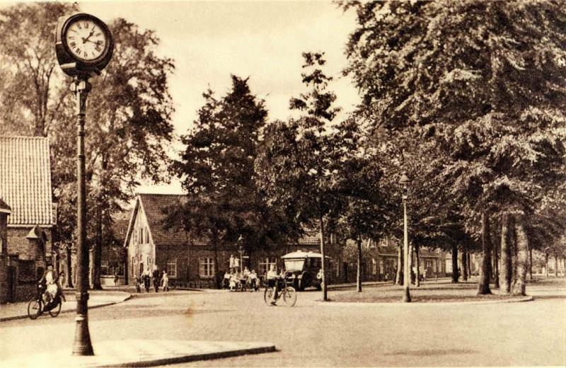
{"label": "broad dark tree with pointed top, directly before the gabled house", "polygon": [[284,243],[294,232],[255,185],[254,160],[267,119],[263,101],[251,94],[248,79],[237,76],[226,96],[216,99],[212,91],[203,96],[195,127],[182,137],[186,149],[175,162],[187,203],[172,209],[169,224],[209,238],[219,286],[220,246],[236,244],[242,236],[250,253]]}

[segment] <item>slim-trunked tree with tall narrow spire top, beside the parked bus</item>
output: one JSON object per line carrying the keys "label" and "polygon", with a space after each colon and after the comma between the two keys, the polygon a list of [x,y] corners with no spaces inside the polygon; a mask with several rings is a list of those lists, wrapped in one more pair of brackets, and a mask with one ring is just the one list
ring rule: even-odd
{"label": "slim-trunked tree with tall narrow spire top, beside the parked bus", "polygon": [[[333,108],[335,94],[327,90],[332,78],[320,69],[325,64],[324,54],[307,52],[303,57],[305,71],[301,76],[309,90],[299,98],[291,98],[290,108],[304,115],[299,120],[275,122],[267,127],[256,166],[260,188],[267,192],[270,201],[294,214],[299,224],[318,224],[324,259],[325,219],[339,212],[338,183],[345,175],[345,152],[331,134],[330,123],[338,109]],[[322,275],[323,301],[327,301],[325,262]]]}

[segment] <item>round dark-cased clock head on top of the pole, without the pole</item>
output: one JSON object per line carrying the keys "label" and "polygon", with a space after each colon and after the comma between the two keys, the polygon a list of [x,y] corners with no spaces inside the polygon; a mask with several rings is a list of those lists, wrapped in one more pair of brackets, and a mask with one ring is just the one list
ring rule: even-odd
{"label": "round dark-cased clock head on top of the pole, without the pole", "polygon": [[96,16],[78,13],[57,21],[55,52],[66,74],[100,74],[110,62],[113,51],[110,30]]}

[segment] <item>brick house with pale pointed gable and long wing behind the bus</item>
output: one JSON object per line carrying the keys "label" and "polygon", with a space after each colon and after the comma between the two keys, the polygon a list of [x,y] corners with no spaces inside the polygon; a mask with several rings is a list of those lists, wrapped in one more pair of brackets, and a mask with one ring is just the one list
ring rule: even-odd
{"label": "brick house with pale pointed gable and long wing behind the bus", "polygon": [[[190,238],[183,230],[163,229],[164,210],[186,201],[185,195],[139,194],[136,198],[125,238],[127,248],[127,283],[133,284],[144,270],[167,270],[170,284],[174,287],[214,287],[214,251],[206,239]],[[267,272],[270,264],[282,267],[282,255],[301,249],[319,251],[320,237],[311,234],[297,243],[282,244],[270,249],[243,254],[243,265],[255,269],[258,275]],[[333,236],[327,247],[330,267],[337,269],[340,247]],[[230,256],[239,258],[238,246],[227,246],[217,251],[221,275],[229,269]],[[333,279],[329,277],[329,282]]]}

